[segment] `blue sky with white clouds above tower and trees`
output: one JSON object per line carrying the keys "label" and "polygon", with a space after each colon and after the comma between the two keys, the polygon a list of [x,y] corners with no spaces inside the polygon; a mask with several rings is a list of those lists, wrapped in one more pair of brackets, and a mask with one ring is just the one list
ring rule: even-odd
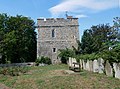
{"label": "blue sky with white clouds above tower and trees", "polygon": [[0,13],[37,18],[65,17],[65,12],[79,18],[80,37],[85,29],[103,23],[113,24],[120,17],[120,0],[0,0]]}

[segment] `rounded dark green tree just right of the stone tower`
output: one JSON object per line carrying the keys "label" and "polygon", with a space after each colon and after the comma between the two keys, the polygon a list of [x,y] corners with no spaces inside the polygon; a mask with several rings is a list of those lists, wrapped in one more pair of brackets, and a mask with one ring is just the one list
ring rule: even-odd
{"label": "rounded dark green tree just right of the stone tower", "polygon": [[81,48],[84,53],[100,52],[108,49],[108,44],[113,43],[116,39],[116,30],[108,24],[92,26],[91,29],[85,30],[82,36]]}

